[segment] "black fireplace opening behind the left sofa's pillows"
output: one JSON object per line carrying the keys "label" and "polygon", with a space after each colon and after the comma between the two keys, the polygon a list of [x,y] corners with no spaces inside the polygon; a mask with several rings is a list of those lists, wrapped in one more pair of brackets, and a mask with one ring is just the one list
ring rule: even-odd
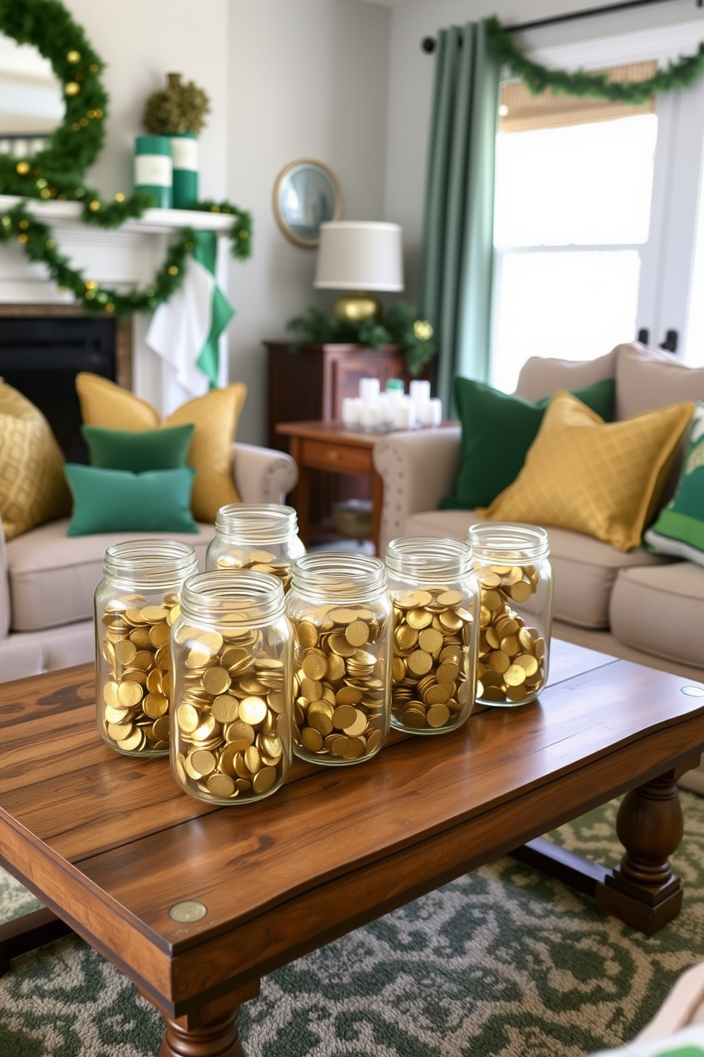
{"label": "black fireplace opening behind the left sofa's pillows", "polygon": [[115,320],[76,316],[0,318],[0,377],[45,415],[68,462],[88,463],[76,375],[116,379]]}

